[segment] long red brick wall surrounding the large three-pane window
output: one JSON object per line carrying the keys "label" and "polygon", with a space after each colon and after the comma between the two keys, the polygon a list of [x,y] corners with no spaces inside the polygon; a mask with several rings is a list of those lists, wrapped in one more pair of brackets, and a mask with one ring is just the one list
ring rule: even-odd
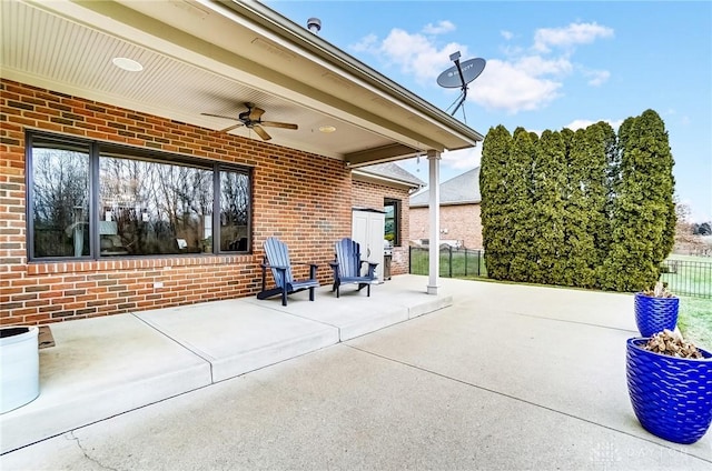
{"label": "long red brick wall surrounding the large three-pane window", "polygon": [[[251,167],[254,253],[28,263],[28,129]],[[293,260],[322,263],[319,280],[327,284],[333,244],[350,236],[352,203],[343,196],[352,181],[340,161],[8,80],[0,81],[0,324],[254,295],[270,236],[289,245]]]}

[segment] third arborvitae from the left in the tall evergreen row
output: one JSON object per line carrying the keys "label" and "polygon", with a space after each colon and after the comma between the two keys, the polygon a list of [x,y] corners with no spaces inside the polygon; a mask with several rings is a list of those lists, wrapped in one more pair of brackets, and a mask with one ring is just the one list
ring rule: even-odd
{"label": "third arborvitae from the left in the tall evergreen row", "polygon": [[558,132],[544,131],[533,161],[530,250],[535,265],[530,281],[561,283],[564,244],[566,144]]}

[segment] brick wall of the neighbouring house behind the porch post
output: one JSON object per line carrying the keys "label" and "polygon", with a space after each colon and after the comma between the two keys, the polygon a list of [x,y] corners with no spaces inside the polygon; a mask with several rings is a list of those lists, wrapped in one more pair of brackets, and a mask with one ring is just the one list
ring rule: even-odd
{"label": "brick wall of the neighbouring house behind the porch post", "polygon": [[[426,208],[411,208],[411,240],[429,239],[429,217]],[[482,249],[479,204],[448,204],[441,207],[441,239],[462,240],[467,249]]]}

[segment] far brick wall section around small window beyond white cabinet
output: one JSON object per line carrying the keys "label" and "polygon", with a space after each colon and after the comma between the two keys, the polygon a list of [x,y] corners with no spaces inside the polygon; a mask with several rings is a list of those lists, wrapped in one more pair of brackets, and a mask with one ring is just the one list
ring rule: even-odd
{"label": "far brick wall section around small window beyond white cabinet", "polygon": [[390,263],[390,274],[408,273],[408,233],[411,231],[408,217],[409,196],[405,188],[387,187],[374,182],[354,180],[352,184],[352,200],[354,207],[384,209],[384,200],[393,199],[400,201],[400,214],[398,223],[400,224],[400,247],[393,248],[393,261]]}

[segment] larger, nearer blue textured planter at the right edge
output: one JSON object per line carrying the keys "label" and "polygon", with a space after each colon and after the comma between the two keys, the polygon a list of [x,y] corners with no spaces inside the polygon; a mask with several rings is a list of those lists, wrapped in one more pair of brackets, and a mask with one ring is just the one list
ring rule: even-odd
{"label": "larger, nearer blue textured planter at the right edge", "polygon": [[669,357],[643,349],[646,338],[629,339],[627,390],[635,417],[654,435],[694,443],[712,422],[712,353],[704,359]]}

